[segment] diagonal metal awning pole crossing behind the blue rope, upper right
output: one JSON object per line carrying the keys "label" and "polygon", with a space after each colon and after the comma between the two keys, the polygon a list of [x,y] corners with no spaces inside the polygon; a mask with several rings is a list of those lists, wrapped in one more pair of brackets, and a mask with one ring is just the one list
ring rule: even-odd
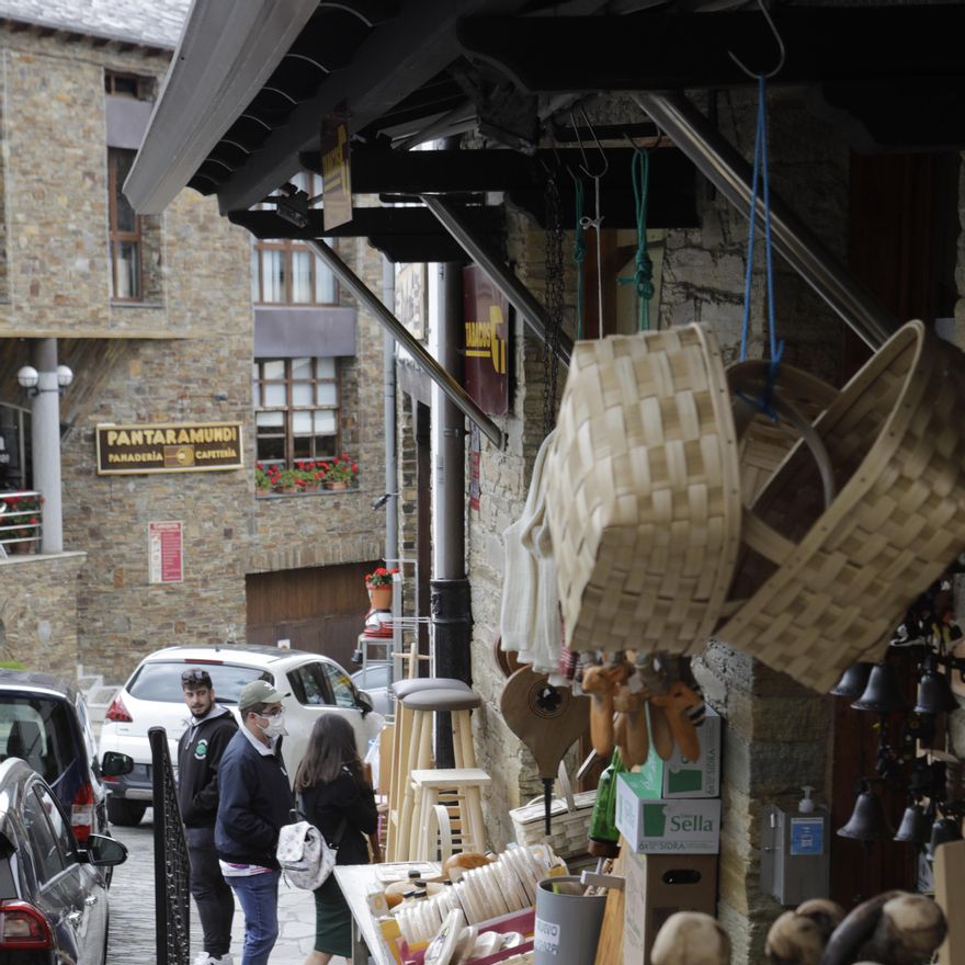
{"label": "diagonal metal awning pole crossing behind the blue rope, upper right", "polygon": [[[646,92],[632,96],[697,170],[745,217],[750,217],[751,167],[707,118],[678,92]],[[774,249],[872,349],[881,348],[898,329],[898,320],[858,284],[773,192],[771,229]]]}

